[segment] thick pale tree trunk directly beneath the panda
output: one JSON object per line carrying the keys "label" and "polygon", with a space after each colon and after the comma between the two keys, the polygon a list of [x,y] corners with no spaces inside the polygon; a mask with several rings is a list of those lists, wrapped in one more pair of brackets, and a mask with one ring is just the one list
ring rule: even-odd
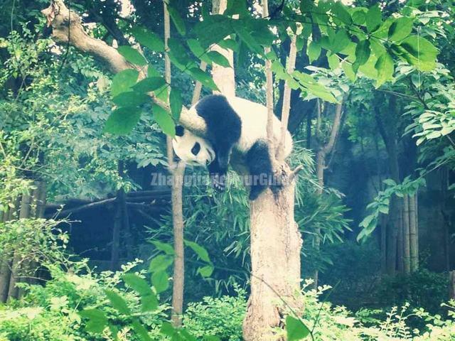
{"label": "thick pale tree trunk directly beneath the panda", "polygon": [[[243,322],[246,341],[274,340],[273,327],[280,324],[286,305],[299,310],[299,228],[294,222],[294,184],[279,192],[270,190],[250,204],[251,295]],[[286,302],[286,305],[284,302]]]}

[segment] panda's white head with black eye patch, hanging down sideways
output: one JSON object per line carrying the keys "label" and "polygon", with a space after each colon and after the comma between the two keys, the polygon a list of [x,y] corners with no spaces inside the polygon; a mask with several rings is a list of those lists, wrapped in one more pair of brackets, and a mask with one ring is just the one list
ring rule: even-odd
{"label": "panda's white head with black eye patch, hanging down sideways", "polygon": [[176,126],[172,147],[176,155],[190,165],[206,166],[215,159],[215,151],[208,141],[184,129],[183,126]]}

